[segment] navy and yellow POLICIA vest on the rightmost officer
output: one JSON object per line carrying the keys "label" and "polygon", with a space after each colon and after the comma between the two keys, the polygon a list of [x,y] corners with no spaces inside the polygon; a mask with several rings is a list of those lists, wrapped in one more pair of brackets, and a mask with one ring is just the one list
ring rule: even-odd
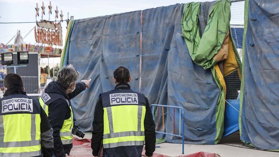
{"label": "navy and yellow POLICIA vest on the rightmost officer", "polygon": [[104,110],[103,148],[144,145],[145,97],[133,90],[101,94]]}

